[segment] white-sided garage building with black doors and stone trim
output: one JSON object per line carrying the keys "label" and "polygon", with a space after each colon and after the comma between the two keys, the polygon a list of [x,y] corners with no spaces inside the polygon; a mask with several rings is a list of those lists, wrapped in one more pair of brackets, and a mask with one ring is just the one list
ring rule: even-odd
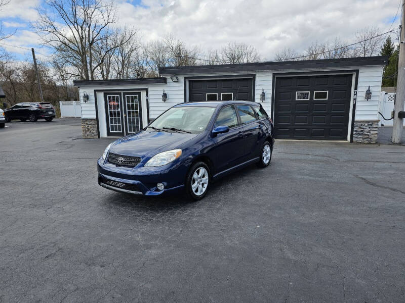
{"label": "white-sided garage building with black doors and stone trim", "polygon": [[387,57],[365,57],[165,67],[159,78],[74,85],[85,138],[137,132],[179,103],[234,99],[262,103],[278,139],[374,143],[387,63]]}

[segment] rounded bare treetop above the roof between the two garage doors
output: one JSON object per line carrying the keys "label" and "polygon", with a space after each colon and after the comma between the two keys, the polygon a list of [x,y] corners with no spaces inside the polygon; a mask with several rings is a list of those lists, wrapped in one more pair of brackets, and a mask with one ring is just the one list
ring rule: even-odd
{"label": "rounded bare treetop above the roof between the two garage doors", "polygon": [[221,50],[222,62],[236,63],[251,63],[260,60],[260,56],[256,48],[246,43],[229,42]]}

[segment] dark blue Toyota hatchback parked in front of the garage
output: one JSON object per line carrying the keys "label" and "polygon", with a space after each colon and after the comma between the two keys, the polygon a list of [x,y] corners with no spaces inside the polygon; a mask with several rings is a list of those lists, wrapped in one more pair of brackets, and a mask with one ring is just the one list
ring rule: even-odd
{"label": "dark blue Toyota hatchback parked in front of the garage", "polygon": [[178,104],[146,128],[112,142],[98,160],[101,186],[146,196],[185,190],[201,199],[212,181],[270,164],[273,123],[253,102]]}

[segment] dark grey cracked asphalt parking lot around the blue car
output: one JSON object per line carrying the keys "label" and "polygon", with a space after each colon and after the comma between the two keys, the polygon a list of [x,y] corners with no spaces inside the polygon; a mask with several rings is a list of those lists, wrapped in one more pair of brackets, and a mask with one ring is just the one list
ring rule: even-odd
{"label": "dark grey cracked asphalt parking lot around the blue car", "polygon": [[79,119],[6,125],[0,302],[405,301],[405,146],[276,141],[191,202],[98,186]]}

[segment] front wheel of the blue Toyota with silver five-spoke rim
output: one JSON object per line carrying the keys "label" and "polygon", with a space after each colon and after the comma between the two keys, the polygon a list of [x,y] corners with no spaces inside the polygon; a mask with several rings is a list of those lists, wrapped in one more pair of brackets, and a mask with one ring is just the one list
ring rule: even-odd
{"label": "front wheel of the blue Toyota with silver five-spoke rim", "polygon": [[193,164],[186,178],[187,195],[200,200],[207,194],[211,184],[210,168],[204,162]]}

